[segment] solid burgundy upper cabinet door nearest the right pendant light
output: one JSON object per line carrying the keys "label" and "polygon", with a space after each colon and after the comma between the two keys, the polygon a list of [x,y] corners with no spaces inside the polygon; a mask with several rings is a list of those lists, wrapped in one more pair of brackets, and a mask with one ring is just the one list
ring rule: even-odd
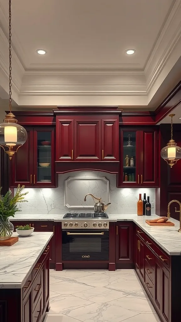
{"label": "solid burgundy upper cabinet door nearest the right pendant light", "polygon": [[140,144],[143,147],[140,158],[141,185],[158,185],[158,132],[157,130],[140,131]]}

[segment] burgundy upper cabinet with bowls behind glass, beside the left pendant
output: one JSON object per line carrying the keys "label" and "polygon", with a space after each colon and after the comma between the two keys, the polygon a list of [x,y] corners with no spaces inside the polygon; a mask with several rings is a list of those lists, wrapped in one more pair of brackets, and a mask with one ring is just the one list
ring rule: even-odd
{"label": "burgundy upper cabinet with bowls behind glass, beside the left pendant", "polygon": [[54,187],[54,128],[26,128],[28,139],[10,161],[10,186]]}

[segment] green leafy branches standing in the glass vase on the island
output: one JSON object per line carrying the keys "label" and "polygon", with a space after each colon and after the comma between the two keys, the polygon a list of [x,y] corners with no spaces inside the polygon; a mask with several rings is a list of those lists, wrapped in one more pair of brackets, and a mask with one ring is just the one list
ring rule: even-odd
{"label": "green leafy branches standing in the glass vase on the island", "polygon": [[[0,188],[0,193],[1,193]],[[11,237],[12,231],[9,228],[8,218],[10,216],[14,217],[14,213],[21,211],[17,208],[17,203],[28,202],[24,199],[24,196],[28,193],[22,193],[24,185],[22,187],[18,185],[16,194],[13,196],[11,190],[7,191],[5,196],[0,194],[0,237],[9,236]]]}

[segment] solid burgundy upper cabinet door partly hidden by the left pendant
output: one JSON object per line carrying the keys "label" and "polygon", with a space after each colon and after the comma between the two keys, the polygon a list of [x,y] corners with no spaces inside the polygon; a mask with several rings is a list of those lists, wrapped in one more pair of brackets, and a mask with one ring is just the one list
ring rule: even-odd
{"label": "solid burgundy upper cabinet door partly hidden by the left pendant", "polygon": [[17,187],[18,184],[31,187],[33,185],[33,129],[26,129],[28,138],[22,147],[10,161],[11,175],[10,186]]}

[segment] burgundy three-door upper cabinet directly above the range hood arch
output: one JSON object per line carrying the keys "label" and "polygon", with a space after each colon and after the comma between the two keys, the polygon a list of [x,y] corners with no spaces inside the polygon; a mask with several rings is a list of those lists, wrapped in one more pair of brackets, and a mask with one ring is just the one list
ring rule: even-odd
{"label": "burgundy three-door upper cabinet directly above the range hood arch", "polygon": [[57,115],[56,161],[119,161],[119,116]]}

